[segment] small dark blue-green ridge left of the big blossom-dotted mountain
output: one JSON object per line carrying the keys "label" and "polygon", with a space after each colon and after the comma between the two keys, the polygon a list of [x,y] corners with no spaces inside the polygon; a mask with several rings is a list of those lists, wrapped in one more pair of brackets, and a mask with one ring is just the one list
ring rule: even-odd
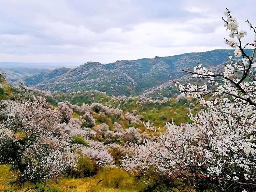
{"label": "small dark blue-green ridge left of the big blossom-dotted mountain", "polygon": [[69,68],[62,67],[52,71],[31,74],[29,76],[24,77],[23,80],[27,86],[33,86],[39,83],[46,83],[49,79],[54,79],[55,77],[67,73],[69,70]]}

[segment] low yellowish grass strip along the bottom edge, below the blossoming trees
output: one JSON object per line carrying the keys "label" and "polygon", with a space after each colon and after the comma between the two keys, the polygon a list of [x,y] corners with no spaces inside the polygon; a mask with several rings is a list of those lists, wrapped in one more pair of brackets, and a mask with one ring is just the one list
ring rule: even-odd
{"label": "low yellowish grass strip along the bottom edge, below the blossoming trees", "polygon": [[59,181],[46,183],[25,183],[22,187],[12,184],[15,179],[10,170],[10,165],[0,165],[0,191],[71,191],[71,192],[119,192],[119,191],[143,191],[145,185],[138,183],[136,178],[122,169],[104,168],[94,177],[62,178]]}

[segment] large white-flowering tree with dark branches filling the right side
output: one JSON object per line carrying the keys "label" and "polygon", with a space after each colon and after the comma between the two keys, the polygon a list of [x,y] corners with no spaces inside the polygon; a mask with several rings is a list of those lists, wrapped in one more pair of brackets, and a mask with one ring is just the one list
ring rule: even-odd
{"label": "large white-flowering tree with dark branches filling the right side", "polygon": [[[192,124],[167,122],[163,134],[146,123],[157,139],[134,146],[133,156],[123,161],[126,170],[143,173],[154,167],[170,178],[188,179],[198,190],[256,190],[256,31],[246,20],[255,37],[243,44],[246,32],[238,30],[229,9],[225,16],[224,27],[231,38],[225,43],[234,48],[235,58],[228,56],[224,72],[213,73],[201,64],[193,71],[184,70],[201,79],[198,84],[174,82],[205,109],[196,116],[190,114]],[[252,55],[245,53],[248,47],[253,48]]]}

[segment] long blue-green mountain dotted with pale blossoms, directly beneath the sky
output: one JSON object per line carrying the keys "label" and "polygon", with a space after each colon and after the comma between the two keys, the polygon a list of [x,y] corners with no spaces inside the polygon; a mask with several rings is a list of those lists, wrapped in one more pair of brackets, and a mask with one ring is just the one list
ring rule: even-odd
{"label": "long blue-green mountain dotted with pale blossoms, directly beneath the sky", "polygon": [[[251,55],[252,50],[245,50]],[[185,75],[182,69],[192,69],[201,63],[209,68],[228,61],[233,50],[216,49],[200,53],[186,53],[153,59],[122,60],[109,64],[87,62],[60,76],[45,78],[38,75],[36,81],[25,78],[26,85],[41,90],[73,92],[98,90],[109,95],[134,95],[162,85],[172,78]]]}

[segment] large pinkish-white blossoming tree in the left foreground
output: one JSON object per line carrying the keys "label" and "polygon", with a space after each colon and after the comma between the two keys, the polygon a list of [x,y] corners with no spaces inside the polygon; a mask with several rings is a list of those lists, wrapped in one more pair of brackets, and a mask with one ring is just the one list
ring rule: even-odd
{"label": "large pinkish-white blossoming tree in the left foreground", "polygon": [[43,98],[0,103],[0,162],[18,170],[20,182],[57,179],[75,166],[61,114],[48,105]]}

